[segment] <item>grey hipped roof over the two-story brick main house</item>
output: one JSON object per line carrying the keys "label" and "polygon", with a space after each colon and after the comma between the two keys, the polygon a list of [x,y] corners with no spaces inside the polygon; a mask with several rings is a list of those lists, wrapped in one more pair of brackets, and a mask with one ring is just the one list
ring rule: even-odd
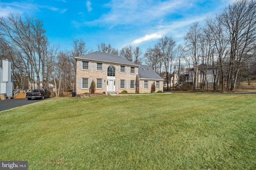
{"label": "grey hipped roof over the two-story brick main house", "polygon": [[82,55],[79,57],[75,57],[77,60],[82,61],[92,61],[92,62],[99,62],[99,63],[110,63],[110,64],[124,64],[129,66],[139,66],[138,64],[132,63],[118,55],[109,54],[109,53],[102,53],[99,51],[89,53],[86,55]]}

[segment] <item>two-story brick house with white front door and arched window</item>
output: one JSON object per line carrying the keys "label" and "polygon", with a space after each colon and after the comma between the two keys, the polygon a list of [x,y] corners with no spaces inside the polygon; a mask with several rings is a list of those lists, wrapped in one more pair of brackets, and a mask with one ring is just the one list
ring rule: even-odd
{"label": "two-story brick house with white front door and arched window", "polygon": [[[151,78],[140,78],[138,75],[141,65],[132,63],[118,55],[97,51],[75,58],[77,61],[77,94],[89,93],[92,80],[96,83],[96,93],[120,93],[123,90],[128,93],[147,93],[150,92],[150,89],[146,89],[151,86],[142,88],[141,84],[146,83],[145,81],[150,83],[150,81],[158,80],[154,77],[156,74],[154,71],[151,71]],[[160,87],[162,87],[161,84]]]}

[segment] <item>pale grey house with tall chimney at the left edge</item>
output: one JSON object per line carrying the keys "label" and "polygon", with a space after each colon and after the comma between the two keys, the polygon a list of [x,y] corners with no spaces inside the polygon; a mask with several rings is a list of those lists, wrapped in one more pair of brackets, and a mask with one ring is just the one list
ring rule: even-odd
{"label": "pale grey house with tall chimney at the left edge", "polygon": [[2,68],[0,67],[0,94],[6,94],[6,97],[13,96],[13,83],[11,78],[11,62],[2,60]]}

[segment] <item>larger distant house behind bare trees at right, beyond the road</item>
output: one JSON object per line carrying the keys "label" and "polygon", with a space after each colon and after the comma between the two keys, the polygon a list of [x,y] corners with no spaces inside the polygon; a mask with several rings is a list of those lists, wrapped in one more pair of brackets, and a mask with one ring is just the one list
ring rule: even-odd
{"label": "larger distant house behind bare trees at right, beyond the road", "polygon": [[200,64],[196,66],[195,68],[192,68],[189,70],[189,82],[194,82],[194,69],[196,69],[196,84],[199,86],[201,82],[203,83],[208,83],[208,84],[213,84],[214,83],[214,74],[213,71],[217,72],[217,69],[213,69],[213,66],[211,65],[205,65],[205,64]]}

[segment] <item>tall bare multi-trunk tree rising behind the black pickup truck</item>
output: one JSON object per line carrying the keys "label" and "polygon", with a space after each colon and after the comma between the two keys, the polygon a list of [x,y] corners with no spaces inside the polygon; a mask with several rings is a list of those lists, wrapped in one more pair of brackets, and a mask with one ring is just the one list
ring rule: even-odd
{"label": "tall bare multi-trunk tree rising behind the black pickup truck", "polygon": [[31,80],[34,81],[35,72],[37,86],[40,88],[40,77],[44,80],[44,62],[48,45],[43,22],[34,17],[25,16],[23,19],[20,14],[9,14],[7,18],[0,18],[0,31],[10,46],[19,51],[29,84]]}

